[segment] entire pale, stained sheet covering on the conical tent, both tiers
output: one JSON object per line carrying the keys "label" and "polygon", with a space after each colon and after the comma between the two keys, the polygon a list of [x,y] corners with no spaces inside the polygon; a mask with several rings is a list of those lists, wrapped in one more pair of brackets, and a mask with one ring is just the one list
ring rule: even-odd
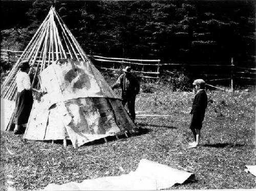
{"label": "entire pale, stained sheet covering on the conical tent, both tiers", "polygon": [[50,65],[41,82],[48,93],[34,102],[24,138],[71,139],[79,147],[126,130],[136,132],[121,100],[88,62]]}

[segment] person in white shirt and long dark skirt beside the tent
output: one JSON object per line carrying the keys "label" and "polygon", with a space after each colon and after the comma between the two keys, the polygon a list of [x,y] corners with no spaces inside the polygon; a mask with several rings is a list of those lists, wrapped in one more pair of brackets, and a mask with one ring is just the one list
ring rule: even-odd
{"label": "person in white shirt and long dark skirt beside the tent", "polygon": [[18,66],[20,70],[16,75],[17,96],[15,101],[15,128],[14,134],[24,133],[24,124],[28,123],[28,118],[33,104],[32,91],[41,92],[32,88],[29,70],[29,62],[24,61]]}

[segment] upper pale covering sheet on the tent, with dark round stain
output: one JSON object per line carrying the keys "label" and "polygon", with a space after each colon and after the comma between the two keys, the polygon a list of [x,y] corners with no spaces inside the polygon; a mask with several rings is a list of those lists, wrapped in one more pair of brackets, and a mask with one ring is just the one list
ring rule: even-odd
{"label": "upper pale covering sheet on the tent, with dark round stain", "polygon": [[46,89],[51,97],[50,105],[87,97],[120,99],[89,62],[71,59],[56,61],[40,73],[40,79],[42,89]]}

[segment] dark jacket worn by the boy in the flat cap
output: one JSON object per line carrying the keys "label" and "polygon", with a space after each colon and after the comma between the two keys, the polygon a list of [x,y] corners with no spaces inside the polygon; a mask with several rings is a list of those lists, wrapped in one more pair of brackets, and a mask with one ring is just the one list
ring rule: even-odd
{"label": "dark jacket worn by the boy in the flat cap", "polygon": [[195,96],[190,114],[204,115],[206,107],[207,107],[206,92],[205,90],[200,90],[199,92],[197,92]]}

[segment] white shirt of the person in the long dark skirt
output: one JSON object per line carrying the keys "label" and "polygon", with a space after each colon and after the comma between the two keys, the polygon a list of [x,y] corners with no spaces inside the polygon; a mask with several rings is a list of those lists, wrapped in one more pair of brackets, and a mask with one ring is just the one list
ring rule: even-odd
{"label": "white shirt of the person in the long dark skirt", "polygon": [[24,89],[31,89],[31,82],[29,75],[24,71],[19,71],[16,76],[17,91],[22,92]]}

